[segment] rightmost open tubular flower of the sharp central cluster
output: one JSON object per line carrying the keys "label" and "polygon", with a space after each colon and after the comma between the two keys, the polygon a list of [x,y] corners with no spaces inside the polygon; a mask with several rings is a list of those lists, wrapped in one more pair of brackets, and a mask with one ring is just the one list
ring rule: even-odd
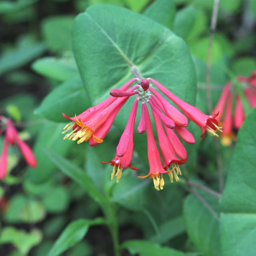
{"label": "rightmost open tubular flower of the sharp central cluster", "polygon": [[218,127],[218,121],[215,117],[218,116],[218,113],[212,114],[210,116],[202,113],[196,107],[189,105],[187,102],[182,101],[180,98],[175,96],[169,90],[167,90],[162,84],[158,83],[156,80],[152,78],[148,78],[151,82],[157,86],[157,88],[162,91],[172,102],[174,102],[182,111],[183,113],[195,124],[197,124],[202,130],[202,139],[204,138],[205,132],[208,131],[212,135],[218,136],[216,130],[220,130]]}

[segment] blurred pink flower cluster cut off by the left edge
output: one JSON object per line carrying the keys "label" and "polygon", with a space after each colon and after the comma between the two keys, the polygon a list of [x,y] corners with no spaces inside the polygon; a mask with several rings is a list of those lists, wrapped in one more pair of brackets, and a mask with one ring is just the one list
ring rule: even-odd
{"label": "blurred pink flower cluster cut off by the left edge", "polygon": [[[33,168],[37,166],[37,161],[31,148],[19,137],[18,131],[15,129],[10,118],[5,118],[0,116],[0,121],[2,125],[6,126],[3,151],[0,157],[0,179],[2,180],[7,173],[7,159],[8,159],[8,146],[11,144],[14,146],[18,145],[21,154],[23,155],[27,164]],[[2,132],[2,130],[1,130]]]}

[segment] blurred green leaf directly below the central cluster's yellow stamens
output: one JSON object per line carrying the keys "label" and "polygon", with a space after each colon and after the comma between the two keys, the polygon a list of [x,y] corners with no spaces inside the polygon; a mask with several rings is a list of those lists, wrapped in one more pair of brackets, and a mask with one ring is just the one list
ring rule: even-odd
{"label": "blurred green leaf directly below the central cluster's yellow stamens", "polygon": [[113,189],[113,202],[131,211],[142,211],[146,201],[147,194],[145,192],[148,183],[148,179],[141,180],[131,174],[122,177]]}

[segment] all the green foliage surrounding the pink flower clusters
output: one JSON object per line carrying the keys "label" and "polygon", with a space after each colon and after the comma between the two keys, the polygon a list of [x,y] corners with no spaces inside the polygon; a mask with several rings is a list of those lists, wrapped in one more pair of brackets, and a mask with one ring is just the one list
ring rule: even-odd
{"label": "all the green foliage surrounding the pink flower clusters", "polygon": [[[221,198],[195,189],[199,200],[189,191],[188,176],[219,190],[214,139],[207,135],[200,143],[200,129],[193,124],[196,144],[186,146],[185,175],[174,184],[166,181],[161,192],[151,180],[136,177],[148,173],[145,135],[135,133],[132,165],[139,171],[124,170],[116,184],[110,166],[100,163],[114,157],[132,101],[97,147],[61,135],[67,123],[62,112],[74,116],[102,101],[133,77],[132,67],[207,113],[213,2],[0,2],[0,114],[22,122],[20,136],[38,161],[36,169],[28,168],[15,148],[9,150],[8,175],[0,183],[0,255],[113,255],[112,238],[124,256],[255,255],[256,109],[237,143],[220,145]],[[256,69],[255,27],[255,0],[220,1],[212,48],[213,104],[228,80]]]}

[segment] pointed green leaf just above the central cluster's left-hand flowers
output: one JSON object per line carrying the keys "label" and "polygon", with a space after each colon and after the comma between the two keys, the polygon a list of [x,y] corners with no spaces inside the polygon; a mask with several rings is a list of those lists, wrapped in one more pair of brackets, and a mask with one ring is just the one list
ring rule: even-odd
{"label": "pointed green leaf just above the central cluster's left-hand flowers", "polygon": [[[34,113],[40,114],[48,120],[69,123],[62,113],[75,116],[75,113],[79,114],[90,106],[90,100],[82,81],[79,76],[75,76],[51,91]],[[59,132],[61,133],[61,129]]]}

